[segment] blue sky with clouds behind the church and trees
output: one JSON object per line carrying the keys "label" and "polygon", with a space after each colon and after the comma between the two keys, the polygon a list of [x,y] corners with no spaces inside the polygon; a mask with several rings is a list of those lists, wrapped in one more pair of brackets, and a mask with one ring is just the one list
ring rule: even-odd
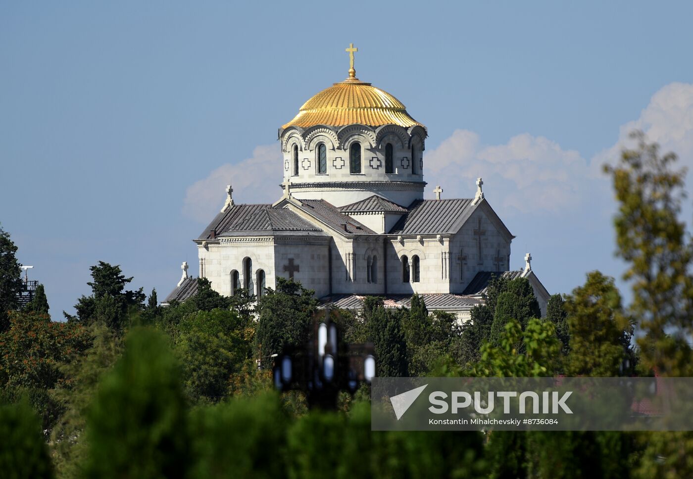
{"label": "blue sky with clouds behind the church and trees", "polygon": [[[72,311],[89,266],[162,299],[218,211],[281,194],[277,128],[347,75],[426,124],[426,192],[486,198],[552,293],[620,276],[599,165],[642,128],[693,164],[684,2],[3,2],[0,223]],[[690,211],[686,211],[686,218]],[[195,272],[196,273],[196,272]]]}

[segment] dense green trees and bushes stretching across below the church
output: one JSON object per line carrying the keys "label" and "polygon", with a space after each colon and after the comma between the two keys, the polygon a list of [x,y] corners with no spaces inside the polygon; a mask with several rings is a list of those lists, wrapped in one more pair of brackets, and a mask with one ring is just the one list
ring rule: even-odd
{"label": "dense green trees and bushes stretching across below the church", "polygon": [[[380,376],[690,376],[683,172],[636,139],[607,168],[632,304],[590,272],[542,318],[526,279],[495,277],[464,324],[417,295],[408,309],[367,297],[363,311],[335,315],[342,340],[372,342]],[[690,432],[371,432],[367,387],[342,394],[338,412],[272,387],[268,358],[310,334],[317,302],[301,284],[222,297],[200,279],[195,297],[163,308],[99,262],[77,314],[51,322],[42,286],[16,311],[16,251],[0,229],[3,477],[693,476]]]}

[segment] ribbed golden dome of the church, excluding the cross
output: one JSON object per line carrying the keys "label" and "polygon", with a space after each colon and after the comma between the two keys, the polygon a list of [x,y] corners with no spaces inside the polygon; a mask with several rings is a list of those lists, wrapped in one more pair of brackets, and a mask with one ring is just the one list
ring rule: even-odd
{"label": "ribbed golden dome of the church, excluding the cross", "polygon": [[[351,76],[351,71],[349,71]],[[400,125],[404,128],[419,125],[397,98],[358,78],[347,78],[322,90],[301,106],[299,114],[286,125],[310,128],[315,125],[344,126]]]}

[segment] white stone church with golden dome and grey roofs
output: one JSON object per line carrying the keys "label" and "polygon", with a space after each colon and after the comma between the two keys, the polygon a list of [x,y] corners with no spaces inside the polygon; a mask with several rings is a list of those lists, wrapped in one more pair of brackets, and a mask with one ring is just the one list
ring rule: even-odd
{"label": "white stone church with golden dome and grey roofs", "polygon": [[[356,51],[347,49],[349,77],[279,128],[281,198],[236,204],[227,187],[224,207],[193,240],[200,277],[222,295],[247,288],[257,296],[285,277],[315,290],[323,304],[351,309],[367,295],[407,307],[418,293],[430,311],[459,320],[482,302],[493,275],[526,277],[545,314],[549,293],[532,257],[525,255],[523,270],[509,270],[515,236],[484,197],[481,178],[471,198],[443,198],[436,186],[436,199],[423,199],[426,126],[356,78]],[[164,304],[195,294],[197,280],[182,268]]]}

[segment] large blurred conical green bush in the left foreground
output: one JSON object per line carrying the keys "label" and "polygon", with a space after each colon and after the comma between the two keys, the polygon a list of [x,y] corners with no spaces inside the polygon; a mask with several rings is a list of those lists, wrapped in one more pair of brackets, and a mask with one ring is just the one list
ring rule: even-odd
{"label": "large blurred conical green bush in the left foreground", "polygon": [[87,419],[87,477],[183,477],[190,463],[179,366],[154,329],[134,328]]}

